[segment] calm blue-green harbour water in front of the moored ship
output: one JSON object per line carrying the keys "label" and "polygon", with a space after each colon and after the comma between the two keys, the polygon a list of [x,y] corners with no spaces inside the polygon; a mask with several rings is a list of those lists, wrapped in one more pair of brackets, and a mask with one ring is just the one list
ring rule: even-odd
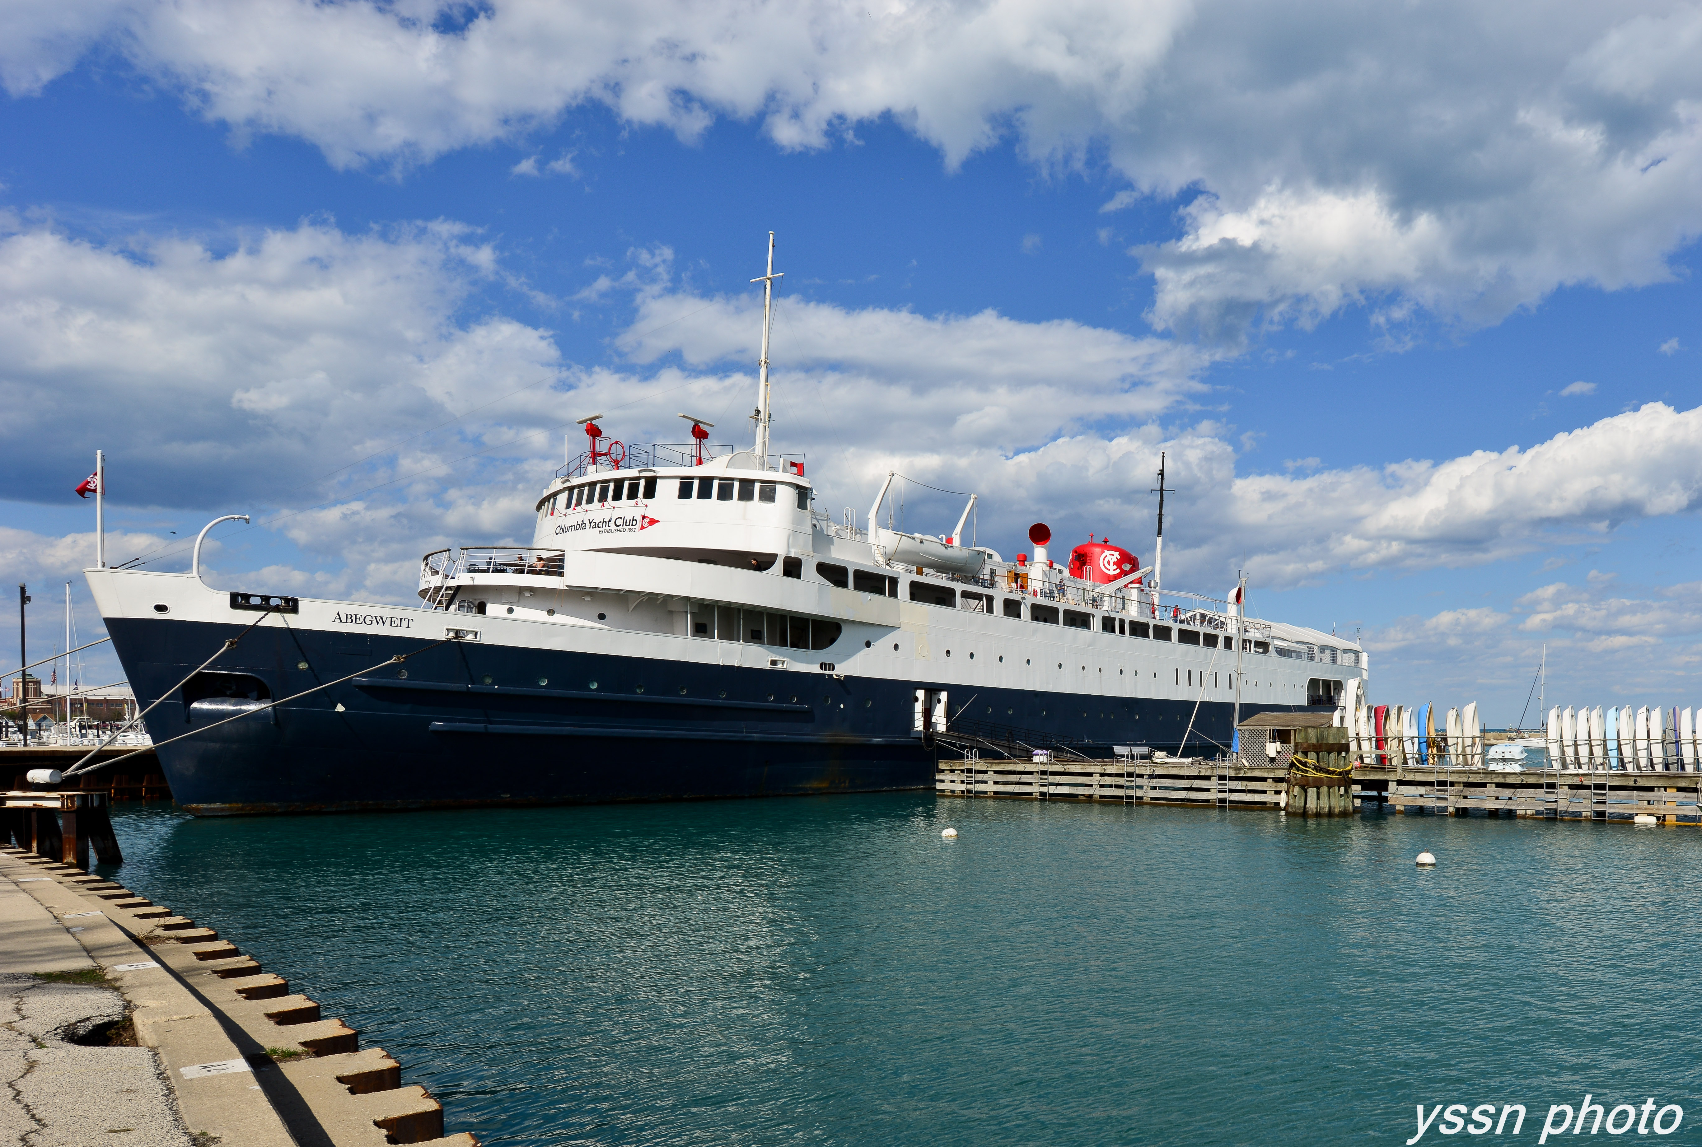
{"label": "calm blue-green harbour water in front of the moored ship", "polygon": [[1537,1142],[1585,1093],[1702,1142],[1695,829],[905,793],[117,832],[485,1144],[1404,1144],[1421,1101]]}

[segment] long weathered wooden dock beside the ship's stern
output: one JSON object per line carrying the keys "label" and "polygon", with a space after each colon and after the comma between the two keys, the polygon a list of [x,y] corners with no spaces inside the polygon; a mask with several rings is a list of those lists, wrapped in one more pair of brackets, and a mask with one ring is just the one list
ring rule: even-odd
{"label": "long weathered wooden dock beside the ship's stern", "polygon": [[[1343,788],[1343,808],[1290,808],[1297,790]],[[941,796],[1096,800],[1125,805],[1258,808],[1304,815],[1351,815],[1362,808],[1465,817],[1632,820],[1702,825],[1702,773],[1576,773],[1360,766],[1341,781],[1290,776],[1283,766],[1232,761],[940,761]],[[1316,800],[1316,796],[1314,796]],[[1328,800],[1328,796],[1326,796]],[[1311,803],[1311,802],[1309,802]]]}

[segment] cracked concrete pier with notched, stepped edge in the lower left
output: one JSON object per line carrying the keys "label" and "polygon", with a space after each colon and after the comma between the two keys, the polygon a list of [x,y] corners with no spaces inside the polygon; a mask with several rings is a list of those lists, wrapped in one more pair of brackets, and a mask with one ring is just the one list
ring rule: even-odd
{"label": "cracked concrete pier with notched, stepped edge in the lower left", "polygon": [[[150,1137],[131,1138],[128,1132],[124,1142],[478,1144],[465,1132],[444,1137],[443,1106],[424,1087],[402,1086],[397,1060],[383,1048],[361,1048],[352,1028],[322,1016],[315,1001],[291,994],[283,977],[262,970],[214,929],[196,927],[192,919],[80,866],[0,849],[0,996],[12,992],[22,1001],[14,1011],[46,1016],[54,1001],[41,997],[39,973],[66,972],[87,980],[78,985],[87,992],[82,1001],[56,1001],[61,1011],[123,1016],[136,1047],[73,1050],[43,1028],[36,1041],[44,1047],[0,1043],[7,1072],[19,1067],[27,1082],[49,1072],[48,1052],[117,1053],[102,1070],[163,1082],[153,1093],[123,1091],[123,1103],[133,1094],[143,1099],[121,1110],[114,1106],[121,1089],[102,1087],[99,1076],[65,1074],[43,1106],[14,1103],[0,1111],[0,1128],[12,1130],[22,1120],[19,1127],[37,1133],[31,1142],[117,1142],[112,1128],[146,1123]],[[41,1028],[46,1021],[32,1023]],[[7,1030],[20,1028],[14,1021]],[[56,1043],[46,1043],[49,1036]],[[26,1059],[3,1059],[12,1050]],[[39,1082],[48,1079],[43,1074]],[[99,1133],[92,1130],[97,1123]]]}

